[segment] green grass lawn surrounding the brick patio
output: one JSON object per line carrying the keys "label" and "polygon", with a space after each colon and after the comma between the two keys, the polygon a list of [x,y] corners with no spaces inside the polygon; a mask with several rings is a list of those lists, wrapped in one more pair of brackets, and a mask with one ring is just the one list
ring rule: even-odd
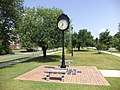
{"label": "green grass lawn surrounding the brick patio", "polygon": [[[97,52],[75,52],[74,57],[66,54],[66,59],[72,59],[74,66],[96,66],[98,69],[120,70],[120,57]],[[120,90],[120,78],[106,78],[111,86],[93,86],[79,84],[47,83],[35,81],[18,81],[14,78],[40,66],[58,65],[61,53],[50,55],[11,65],[0,69],[0,90]]]}

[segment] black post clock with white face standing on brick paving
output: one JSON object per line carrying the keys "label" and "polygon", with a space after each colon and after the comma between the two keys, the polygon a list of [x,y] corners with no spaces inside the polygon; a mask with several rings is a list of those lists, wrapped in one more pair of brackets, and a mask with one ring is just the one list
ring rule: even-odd
{"label": "black post clock with white face standing on brick paving", "polygon": [[64,54],[64,31],[69,28],[70,20],[65,14],[61,14],[57,19],[57,28],[62,32],[62,63],[61,68],[66,68],[65,54]]}

